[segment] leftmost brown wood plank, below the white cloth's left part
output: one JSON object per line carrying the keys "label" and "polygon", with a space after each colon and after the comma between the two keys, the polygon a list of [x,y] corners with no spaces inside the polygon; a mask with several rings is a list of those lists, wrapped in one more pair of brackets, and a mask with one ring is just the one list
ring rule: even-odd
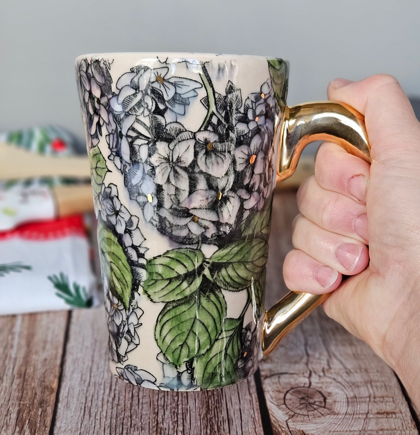
{"label": "leftmost brown wood plank, below the white cloth's left part", "polygon": [[48,433],[67,311],[0,317],[0,433]]}

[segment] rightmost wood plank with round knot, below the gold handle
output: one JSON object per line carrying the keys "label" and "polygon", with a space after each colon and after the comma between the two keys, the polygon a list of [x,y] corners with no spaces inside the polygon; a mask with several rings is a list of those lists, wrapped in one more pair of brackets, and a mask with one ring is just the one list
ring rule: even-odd
{"label": "rightmost wood plank with round knot, below the gold handle", "polygon": [[[295,196],[273,201],[266,304],[286,291],[279,274],[292,248]],[[318,308],[260,364],[275,434],[417,434],[393,371]]]}

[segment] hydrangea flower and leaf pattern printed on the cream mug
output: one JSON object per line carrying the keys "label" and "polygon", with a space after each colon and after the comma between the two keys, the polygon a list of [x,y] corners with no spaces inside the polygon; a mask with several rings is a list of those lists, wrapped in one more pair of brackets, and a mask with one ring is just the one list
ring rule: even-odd
{"label": "hydrangea flower and leaf pattern printed on the cream mug", "polygon": [[[147,297],[162,307],[154,339],[163,381],[130,364],[117,367],[118,376],[151,388],[217,388],[257,368],[255,322],[263,313],[276,177],[274,124],[284,106],[287,67],[268,60],[271,78],[243,100],[230,80],[219,94],[206,63],[194,65],[200,81],[170,74],[165,62],[156,66],[133,67],[113,84],[110,62],[77,65],[110,359],[122,364],[141,345],[140,302]],[[200,104],[206,114],[190,131],[183,120],[199,91],[205,91]],[[100,137],[108,164],[97,147]],[[131,214],[117,186],[104,182],[109,164],[142,216]],[[175,247],[148,256],[141,220]],[[213,247],[211,255],[205,246]],[[225,292],[245,294],[236,318],[227,317]],[[250,310],[254,322],[245,325]]]}

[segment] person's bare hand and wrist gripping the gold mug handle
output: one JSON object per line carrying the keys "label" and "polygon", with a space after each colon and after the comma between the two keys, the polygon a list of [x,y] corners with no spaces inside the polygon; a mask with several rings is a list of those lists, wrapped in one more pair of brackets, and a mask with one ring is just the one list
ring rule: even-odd
{"label": "person's bare hand and wrist gripping the gold mug handle", "polygon": [[372,165],[321,145],[297,194],[284,279],[294,291],[334,291],[327,315],[396,371],[420,409],[420,124],[388,75],[333,80],[328,97],[365,116]]}

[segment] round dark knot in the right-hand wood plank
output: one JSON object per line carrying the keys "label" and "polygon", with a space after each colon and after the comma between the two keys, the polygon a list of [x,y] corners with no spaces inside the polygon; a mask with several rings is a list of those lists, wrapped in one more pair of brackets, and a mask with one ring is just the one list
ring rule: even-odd
{"label": "round dark knot in the right-hand wood plank", "polygon": [[284,404],[291,412],[299,415],[319,413],[320,408],[325,408],[325,402],[325,396],[314,388],[290,388],[284,395]]}

